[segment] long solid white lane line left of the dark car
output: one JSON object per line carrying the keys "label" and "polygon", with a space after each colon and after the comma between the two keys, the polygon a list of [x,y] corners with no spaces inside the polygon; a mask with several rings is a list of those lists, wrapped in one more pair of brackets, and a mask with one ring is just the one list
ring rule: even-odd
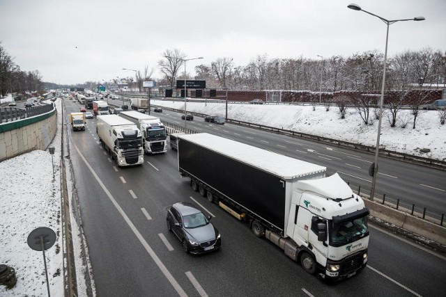
{"label": "long solid white lane line left of the dark car", "polygon": [[76,148],[79,156],[81,156],[82,160],[84,161],[85,165],[89,168],[91,174],[95,177],[96,181],[101,186],[102,190],[107,194],[107,197],[109,198],[109,200],[112,201],[112,203],[114,204],[114,207],[118,210],[119,214],[121,214],[121,216],[125,220],[125,223],[127,223],[127,225],[130,227],[130,229],[132,230],[134,235],[137,236],[137,239],[139,240],[139,242],[142,244],[142,246],[144,246],[144,248],[148,252],[148,255],[151,256],[151,258],[153,259],[155,264],[157,264],[158,268],[160,268],[160,271],[162,272],[162,274],[164,274],[164,276],[167,278],[167,280],[169,280],[169,282],[171,283],[172,287],[174,287],[174,289],[176,290],[178,295],[187,297],[186,292],[183,290],[183,288],[180,286],[180,284],[178,284],[178,282],[174,278],[174,275],[172,275],[170,273],[169,269],[167,269],[167,267],[162,263],[160,258],[156,255],[156,253],[151,248],[151,246],[148,245],[146,239],[144,239],[144,237],[141,235],[141,233],[139,233],[139,231],[137,230],[137,227],[135,227],[133,225],[130,218],[127,216],[127,214],[125,214],[123,209],[119,206],[118,202],[116,202],[116,200],[113,198],[112,193],[110,193],[107,190],[107,187],[105,186],[105,184],[100,180],[100,178],[98,177],[96,172],[93,170],[93,168],[91,168],[90,164],[86,161],[84,155],[79,151],[79,148],[77,147],[77,145],[75,145],[75,148]]}

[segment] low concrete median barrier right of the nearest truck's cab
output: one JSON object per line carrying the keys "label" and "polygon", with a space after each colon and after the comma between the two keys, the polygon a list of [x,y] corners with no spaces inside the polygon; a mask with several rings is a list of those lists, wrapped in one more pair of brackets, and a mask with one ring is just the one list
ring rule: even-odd
{"label": "low concrete median barrier right of the nearest truck's cab", "polygon": [[364,199],[365,205],[369,208],[371,216],[385,220],[387,223],[392,223],[397,227],[401,227],[404,230],[408,230],[415,234],[426,237],[443,245],[446,245],[446,228],[440,225],[436,225],[406,214],[403,211],[392,209],[383,204],[371,202]]}

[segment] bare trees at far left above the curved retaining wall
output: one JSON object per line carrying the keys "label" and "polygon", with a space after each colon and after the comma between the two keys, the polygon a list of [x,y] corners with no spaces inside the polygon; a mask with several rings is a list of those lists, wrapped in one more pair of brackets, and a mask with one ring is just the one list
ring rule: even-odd
{"label": "bare trees at far left above the curved retaining wall", "polygon": [[42,77],[38,70],[22,71],[14,59],[3,49],[0,42],[0,95],[43,90]]}

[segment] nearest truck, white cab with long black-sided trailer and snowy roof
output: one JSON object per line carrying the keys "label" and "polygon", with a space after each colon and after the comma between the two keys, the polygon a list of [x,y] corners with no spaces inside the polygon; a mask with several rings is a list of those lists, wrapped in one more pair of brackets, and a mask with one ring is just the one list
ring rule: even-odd
{"label": "nearest truck, white cab with long black-sided trailer and snowy roof", "polygon": [[369,209],[337,173],[206,133],[178,136],[178,169],[307,273],[340,280],[367,266]]}

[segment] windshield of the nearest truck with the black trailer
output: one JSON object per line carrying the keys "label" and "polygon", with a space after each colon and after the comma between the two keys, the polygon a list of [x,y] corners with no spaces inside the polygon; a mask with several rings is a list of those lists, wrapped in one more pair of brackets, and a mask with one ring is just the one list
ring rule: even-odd
{"label": "windshield of the nearest truck with the black trailer", "polygon": [[364,236],[369,232],[367,216],[355,220],[344,220],[333,223],[330,228],[330,243],[349,243],[357,236]]}

